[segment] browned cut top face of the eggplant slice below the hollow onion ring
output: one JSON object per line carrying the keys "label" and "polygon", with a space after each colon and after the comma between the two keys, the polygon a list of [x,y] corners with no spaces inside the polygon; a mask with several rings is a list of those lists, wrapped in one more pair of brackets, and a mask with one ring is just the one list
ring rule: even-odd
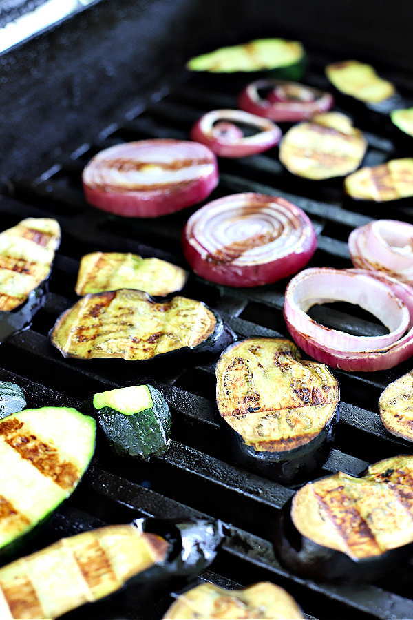
{"label": "browned cut top face of the eggplant slice below the hollow onion ring", "polygon": [[224,353],[216,367],[220,415],[255,450],[282,452],[313,440],[339,402],[324,364],[302,360],[282,338],[249,338]]}

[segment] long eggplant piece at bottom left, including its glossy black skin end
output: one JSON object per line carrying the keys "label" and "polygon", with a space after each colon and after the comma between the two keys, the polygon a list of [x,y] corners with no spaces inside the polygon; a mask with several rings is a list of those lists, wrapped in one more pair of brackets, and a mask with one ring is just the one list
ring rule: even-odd
{"label": "long eggplant piece at bottom left, including its glossy black skin end", "polygon": [[[159,530],[159,524],[156,530]],[[6,619],[57,618],[119,590],[126,582],[148,583],[193,576],[208,566],[222,539],[209,521],[184,521],[150,529],[149,519],[61,539],[0,569],[0,614]],[[200,537],[207,542],[202,548]],[[207,552],[204,552],[205,548]],[[182,561],[176,562],[176,557]],[[196,558],[197,562],[194,560]]]}

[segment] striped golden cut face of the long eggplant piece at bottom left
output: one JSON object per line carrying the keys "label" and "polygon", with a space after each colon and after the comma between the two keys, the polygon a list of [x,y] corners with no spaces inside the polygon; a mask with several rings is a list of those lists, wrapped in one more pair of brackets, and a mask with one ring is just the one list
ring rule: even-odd
{"label": "striped golden cut face of the long eggplant piece at bottom left", "polygon": [[164,561],[168,548],[164,539],[131,525],[61,539],[0,568],[0,618],[57,618]]}

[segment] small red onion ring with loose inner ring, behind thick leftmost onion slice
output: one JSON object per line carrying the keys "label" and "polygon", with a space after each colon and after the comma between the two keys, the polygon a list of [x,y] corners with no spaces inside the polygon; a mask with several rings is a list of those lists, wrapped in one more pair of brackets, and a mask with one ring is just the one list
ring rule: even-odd
{"label": "small red onion ring with loose inner ring, behind thick leftmost onion slice", "polygon": [[[233,123],[251,125],[259,131],[244,137],[240,127]],[[222,125],[226,130],[224,132]],[[190,136],[191,140],[207,145],[215,155],[235,158],[271,149],[281,140],[282,132],[272,121],[255,114],[242,110],[213,110],[193,125]]]}

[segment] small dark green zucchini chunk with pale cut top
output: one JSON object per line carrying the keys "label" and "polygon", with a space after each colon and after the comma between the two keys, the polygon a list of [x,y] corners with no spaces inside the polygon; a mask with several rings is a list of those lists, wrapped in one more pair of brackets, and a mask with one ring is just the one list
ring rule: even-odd
{"label": "small dark green zucchini chunk with pale cut top", "polygon": [[171,413],[165,398],[151,385],[94,394],[82,410],[97,417],[117,456],[149,459],[169,448]]}

